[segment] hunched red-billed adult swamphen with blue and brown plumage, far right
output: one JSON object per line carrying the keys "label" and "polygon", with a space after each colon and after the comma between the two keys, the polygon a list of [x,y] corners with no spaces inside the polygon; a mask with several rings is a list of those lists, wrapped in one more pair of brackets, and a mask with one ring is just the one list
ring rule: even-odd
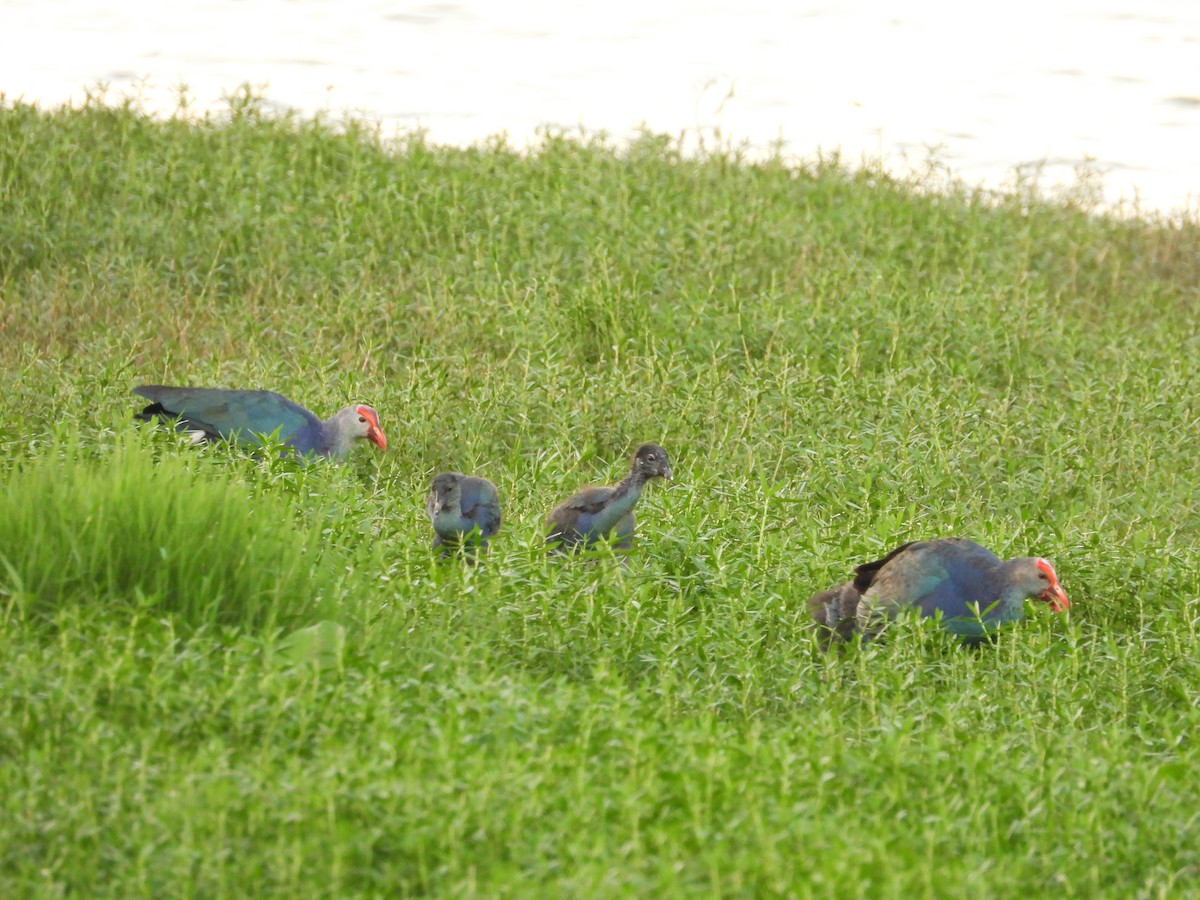
{"label": "hunched red-billed adult swamphen with blue and brown plumage, far right", "polygon": [[942,614],[942,626],[966,643],[1025,616],[1026,600],[1055,612],[1070,606],[1054,566],[1042,557],[1001,559],[964,538],[913,541],[864,563],[854,580],[809,600],[824,643],[854,632],[878,634],[904,608]]}

